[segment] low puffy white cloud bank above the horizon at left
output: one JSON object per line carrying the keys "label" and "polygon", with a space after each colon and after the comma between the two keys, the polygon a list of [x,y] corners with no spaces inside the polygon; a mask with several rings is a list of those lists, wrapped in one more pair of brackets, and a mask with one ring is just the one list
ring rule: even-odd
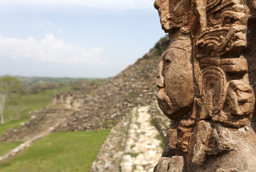
{"label": "low puffy white cloud bank above the horizon at left", "polygon": [[106,64],[100,59],[102,48],[87,50],[79,44],[64,44],[53,34],[46,34],[42,41],[37,41],[32,37],[20,40],[0,36],[0,47],[0,58],[31,59],[65,64]]}

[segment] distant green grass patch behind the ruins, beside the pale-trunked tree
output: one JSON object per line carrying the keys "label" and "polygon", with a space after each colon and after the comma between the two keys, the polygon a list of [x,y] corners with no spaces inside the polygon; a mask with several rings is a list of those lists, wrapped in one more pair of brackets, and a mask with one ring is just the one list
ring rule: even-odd
{"label": "distant green grass patch behind the ruins, beside the pale-trunked tree", "polygon": [[[25,116],[28,116],[29,111],[41,110],[46,105],[49,105],[51,103],[51,97],[56,93],[67,91],[71,91],[71,88],[63,87],[57,89],[48,89],[45,91],[39,91],[39,93],[36,94],[24,93],[18,95],[17,93],[12,93],[9,97],[9,101],[6,102],[6,108],[3,114],[8,120],[10,120],[10,116],[13,116],[14,118],[24,118]],[[20,107],[25,108],[25,110],[22,111],[19,116],[12,111],[12,105],[15,106],[17,104]],[[6,122],[8,120],[6,120]]]}

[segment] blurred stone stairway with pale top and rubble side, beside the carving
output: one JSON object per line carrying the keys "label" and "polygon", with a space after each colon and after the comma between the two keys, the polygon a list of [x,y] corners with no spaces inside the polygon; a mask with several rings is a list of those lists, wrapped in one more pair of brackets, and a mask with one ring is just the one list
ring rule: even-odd
{"label": "blurred stone stairway with pale top and rubble side, beside the carving", "polygon": [[[93,162],[91,172],[96,171],[153,171],[161,157],[163,138],[152,117],[156,102],[134,107],[130,114],[112,128]],[[157,110],[158,111],[158,110]],[[160,118],[160,113],[155,118]],[[158,117],[156,117],[158,116]]]}

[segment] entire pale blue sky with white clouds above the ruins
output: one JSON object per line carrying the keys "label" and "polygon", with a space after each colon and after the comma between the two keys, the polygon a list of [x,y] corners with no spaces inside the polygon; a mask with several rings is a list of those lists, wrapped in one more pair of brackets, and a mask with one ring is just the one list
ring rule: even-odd
{"label": "entire pale blue sky with white clouds above the ruins", "polygon": [[115,76],[165,35],[153,2],[1,0],[0,76]]}

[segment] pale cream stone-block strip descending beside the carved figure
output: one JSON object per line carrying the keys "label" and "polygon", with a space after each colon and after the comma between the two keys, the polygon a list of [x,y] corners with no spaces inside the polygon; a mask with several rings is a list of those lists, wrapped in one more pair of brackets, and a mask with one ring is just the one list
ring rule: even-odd
{"label": "pale cream stone-block strip descending beside the carved figure", "polygon": [[148,114],[149,106],[134,108],[131,115],[125,152],[121,162],[122,172],[153,171],[161,157],[159,131]]}

